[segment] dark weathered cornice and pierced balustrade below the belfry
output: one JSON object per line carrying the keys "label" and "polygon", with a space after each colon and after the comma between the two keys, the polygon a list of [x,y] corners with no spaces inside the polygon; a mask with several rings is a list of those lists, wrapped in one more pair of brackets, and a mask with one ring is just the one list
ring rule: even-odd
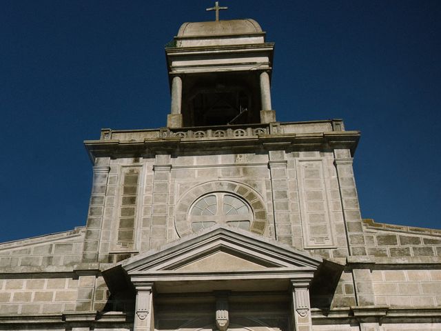
{"label": "dark weathered cornice and pierced balustrade below the belfry", "polygon": [[100,140],[84,143],[94,161],[96,157],[140,157],[158,152],[226,148],[237,151],[349,149],[354,154],[359,139],[360,132],[342,130],[341,121],[316,121],[145,131],[104,129]]}

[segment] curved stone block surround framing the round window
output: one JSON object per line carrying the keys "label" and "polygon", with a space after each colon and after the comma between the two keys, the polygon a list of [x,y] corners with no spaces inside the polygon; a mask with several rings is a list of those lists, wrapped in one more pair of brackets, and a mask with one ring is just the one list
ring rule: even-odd
{"label": "curved stone block surround framing the round window", "polygon": [[251,222],[249,230],[258,234],[265,232],[267,211],[262,197],[260,197],[256,190],[243,183],[233,181],[210,181],[189,189],[176,203],[174,223],[179,237],[193,233],[192,219],[189,217],[189,214],[198,201],[201,201],[203,197],[208,197],[210,194],[217,197],[220,194],[226,194],[243,200],[251,209],[249,211],[252,214],[252,217],[249,219]]}

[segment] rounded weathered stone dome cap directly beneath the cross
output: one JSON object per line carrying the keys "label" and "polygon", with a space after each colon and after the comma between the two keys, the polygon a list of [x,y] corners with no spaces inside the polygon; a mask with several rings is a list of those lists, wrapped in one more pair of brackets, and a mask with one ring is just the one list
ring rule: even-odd
{"label": "rounded weathered stone dome cap directly beneath the cross", "polygon": [[232,19],[228,21],[183,23],[179,28],[177,37],[253,34],[259,32],[262,32],[262,28],[254,19]]}

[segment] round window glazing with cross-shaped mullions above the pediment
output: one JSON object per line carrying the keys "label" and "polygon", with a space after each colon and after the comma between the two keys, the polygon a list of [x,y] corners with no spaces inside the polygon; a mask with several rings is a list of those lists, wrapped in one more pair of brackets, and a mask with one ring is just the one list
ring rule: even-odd
{"label": "round window glazing with cross-shaped mullions above the pediment", "polygon": [[252,212],[242,199],[232,194],[216,192],[199,198],[189,213],[189,221],[194,232],[223,223],[233,228],[249,230]]}

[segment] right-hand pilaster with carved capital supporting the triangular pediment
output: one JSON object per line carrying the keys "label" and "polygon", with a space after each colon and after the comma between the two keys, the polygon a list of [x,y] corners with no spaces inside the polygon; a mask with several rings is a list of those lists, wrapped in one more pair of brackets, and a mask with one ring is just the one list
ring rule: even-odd
{"label": "right-hand pilaster with carved capital supporting the triangular pediment", "polygon": [[294,283],[292,285],[292,324],[296,331],[311,331],[311,306],[309,303],[309,283]]}

